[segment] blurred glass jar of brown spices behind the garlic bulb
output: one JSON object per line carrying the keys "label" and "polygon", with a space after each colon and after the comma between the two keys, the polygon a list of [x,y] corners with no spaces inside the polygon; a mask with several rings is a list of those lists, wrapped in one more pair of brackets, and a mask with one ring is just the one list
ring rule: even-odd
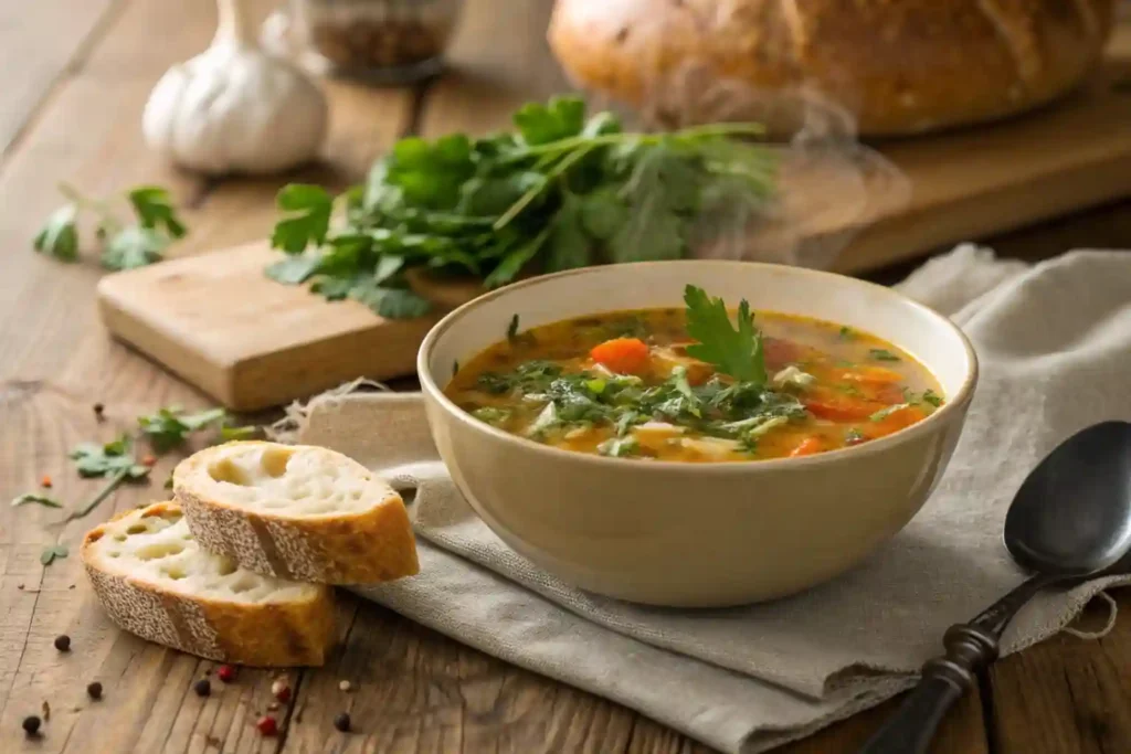
{"label": "blurred glass jar of brown spices behind the garlic bulb", "polygon": [[443,68],[463,0],[291,0],[294,41],[325,67],[386,84]]}

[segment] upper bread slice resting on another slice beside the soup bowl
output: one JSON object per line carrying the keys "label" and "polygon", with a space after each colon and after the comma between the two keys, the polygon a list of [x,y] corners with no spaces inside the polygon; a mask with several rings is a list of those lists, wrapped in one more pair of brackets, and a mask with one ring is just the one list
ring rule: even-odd
{"label": "upper bread slice resting on another slice beside the soup bowl", "polygon": [[208,448],[178,465],[173,495],[204,547],[259,573],[351,584],[420,569],[400,495],[333,450]]}

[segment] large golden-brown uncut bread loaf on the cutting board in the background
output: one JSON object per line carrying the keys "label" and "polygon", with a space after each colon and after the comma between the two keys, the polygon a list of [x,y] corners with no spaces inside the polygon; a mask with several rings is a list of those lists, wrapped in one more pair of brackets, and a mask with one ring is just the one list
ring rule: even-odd
{"label": "large golden-brown uncut bread loaf on the cutting board in the background", "polygon": [[694,111],[701,93],[683,104],[672,93],[696,67],[758,93],[809,87],[851,111],[861,132],[901,135],[1065,93],[1099,59],[1114,1],[558,0],[549,37],[577,85],[637,107]]}

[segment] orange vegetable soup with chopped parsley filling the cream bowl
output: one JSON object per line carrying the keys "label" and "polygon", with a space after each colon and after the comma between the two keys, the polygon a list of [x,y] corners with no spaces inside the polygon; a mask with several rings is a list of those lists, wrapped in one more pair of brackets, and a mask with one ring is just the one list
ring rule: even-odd
{"label": "orange vegetable soup with chopped parsley filling the cream bowl", "polygon": [[584,453],[665,461],[811,456],[898,432],[942,405],[896,346],[688,286],[683,309],[582,317],[518,332],[446,392],[511,434]]}

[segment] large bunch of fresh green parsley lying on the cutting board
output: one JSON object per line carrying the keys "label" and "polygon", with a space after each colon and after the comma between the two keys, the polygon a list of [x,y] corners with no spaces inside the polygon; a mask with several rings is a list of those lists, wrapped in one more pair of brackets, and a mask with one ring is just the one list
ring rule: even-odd
{"label": "large bunch of fresh green parsley lying on the cutting board", "polygon": [[[411,289],[411,268],[491,288],[525,270],[680,259],[703,240],[700,220],[731,229],[723,214],[771,193],[770,154],[741,140],[761,135],[754,123],[627,133],[611,113],[587,119],[576,97],[528,103],[513,122],[480,139],[402,139],[337,200],[285,187],[271,244],[287,257],[268,277],[417,317],[430,304]],[[336,203],[345,222],[331,231]]]}

